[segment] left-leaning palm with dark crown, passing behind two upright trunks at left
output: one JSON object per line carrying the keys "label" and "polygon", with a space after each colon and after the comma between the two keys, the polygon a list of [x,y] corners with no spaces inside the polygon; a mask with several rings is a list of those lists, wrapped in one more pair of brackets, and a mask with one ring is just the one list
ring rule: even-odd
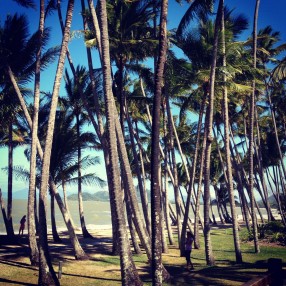
{"label": "left-leaning palm with dark crown, passing behind two upright trunks at left", "polygon": [[[17,31],[17,34],[15,33],[13,34],[12,31],[14,30]],[[0,67],[3,68],[3,71],[1,70],[1,72],[7,76],[7,78],[5,77],[3,78],[3,80],[6,83],[10,83],[13,86],[17,94],[18,100],[21,104],[21,108],[24,112],[29,128],[32,129],[32,120],[31,120],[29,111],[27,109],[26,102],[23,98],[19,85],[21,85],[22,83],[26,83],[27,80],[31,78],[31,74],[33,74],[33,72],[35,71],[35,68],[33,66],[34,64],[33,55],[35,54],[34,51],[37,50],[36,47],[37,47],[38,42],[35,41],[36,38],[34,35],[30,39],[27,39],[27,21],[24,16],[20,16],[20,17],[18,17],[17,15],[14,17],[9,16],[7,18],[7,21],[5,22],[5,29],[3,29],[3,31],[4,31],[3,34],[1,34],[1,40],[2,40],[1,45],[2,46],[0,49],[0,52],[1,52],[0,53],[0,56],[1,56]],[[11,38],[8,36],[11,34],[15,35],[15,38]],[[47,40],[47,38],[45,39]],[[51,48],[46,51],[46,53],[42,57],[43,66],[49,63],[51,60],[53,60],[55,56],[55,52],[57,51],[58,50],[54,48]],[[9,55],[9,57],[7,57],[7,55]],[[18,81],[16,81],[16,77],[11,68],[15,69],[15,75],[17,76]],[[43,150],[42,150],[39,140],[37,141],[37,150],[38,150],[39,157],[42,160]],[[51,187],[53,194],[55,195],[59,208],[64,217],[65,223],[67,225],[71,243],[74,248],[75,257],[77,259],[86,259],[87,256],[79,244],[79,241],[75,234],[75,230],[71,223],[70,215],[67,212],[64,204],[62,203],[62,199],[59,196],[56,185],[52,179],[49,180],[49,185]]]}

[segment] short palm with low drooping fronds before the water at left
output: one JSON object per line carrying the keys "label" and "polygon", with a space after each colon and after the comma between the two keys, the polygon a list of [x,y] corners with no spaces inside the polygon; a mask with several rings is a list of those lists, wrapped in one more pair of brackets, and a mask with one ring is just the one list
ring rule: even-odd
{"label": "short palm with low drooping fronds before the water at left", "polygon": [[[81,132],[81,134],[78,134],[77,124],[81,125],[81,122],[75,122],[74,124],[73,120],[74,114],[68,110],[57,112],[50,163],[51,177],[56,184],[61,183],[65,198],[66,185],[74,184],[76,180],[77,184],[80,181],[81,185],[91,183],[99,186],[104,185],[104,182],[95,174],[83,174],[86,168],[97,164],[99,161],[98,158],[90,158],[89,156],[80,156],[79,158],[78,146],[80,144],[81,148],[96,148],[97,143],[92,133]],[[75,176],[75,173],[77,173],[77,176]],[[65,206],[68,208],[66,199]],[[83,210],[80,214],[83,215]],[[82,219],[82,216],[80,216],[80,219]]]}

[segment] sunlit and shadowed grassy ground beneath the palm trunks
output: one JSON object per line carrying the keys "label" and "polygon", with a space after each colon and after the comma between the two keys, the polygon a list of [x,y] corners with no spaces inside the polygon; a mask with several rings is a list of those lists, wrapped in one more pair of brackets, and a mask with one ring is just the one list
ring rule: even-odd
{"label": "sunlit and shadowed grassy ground beneath the palm trunks", "polygon": [[[119,257],[111,255],[110,230],[92,234],[93,239],[83,239],[79,235],[82,247],[90,257],[88,261],[74,259],[66,234],[62,236],[62,243],[50,242],[56,272],[59,261],[62,261],[61,285],[121,285]],[[169,246],[168,253],[163,254],[163,263],[172,280],[164,285],[242,285],[265,273],[269,258],[281,258],[286,272],[286,247],[261,243],[261,252],[255,254],[253,243],[241,243],[243,264],[238,265],[235,263],[231,226],[213,228],[211,240],[216,265],[206,265],[201,236],[201,249],[192,252],[195,269],[191,272],[185,268],[185,258],[180,257],[177,246]],[[151,285],[151,269],[146,255],[134,255],[133,258],[144,285]],[[0,284],[37,285],[37,282],[38,269],[30,266],[27,237],[21,238],[19,243],[7,242],[0,237]]]}

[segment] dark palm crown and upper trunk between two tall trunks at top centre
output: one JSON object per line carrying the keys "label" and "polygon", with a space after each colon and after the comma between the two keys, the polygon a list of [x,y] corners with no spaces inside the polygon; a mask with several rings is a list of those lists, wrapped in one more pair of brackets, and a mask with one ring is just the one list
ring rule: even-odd
{"label": "dark palm crown and upper trunk between two tall trunks at top centre", "polygon": [[110,31],[110,55],[117,72],[114,75],[115,95],[120,104],[120,123],[123,129],[126,95],[124,73],[130,63],[151,56],[155,47],[150,20],[153,17],[153,1],[108,1],[108,29]]}

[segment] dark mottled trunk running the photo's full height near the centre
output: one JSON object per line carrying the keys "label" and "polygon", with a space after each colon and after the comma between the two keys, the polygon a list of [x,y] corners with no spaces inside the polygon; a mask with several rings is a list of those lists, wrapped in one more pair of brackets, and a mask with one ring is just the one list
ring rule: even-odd
{"label": "dark mottled trunk running the photo's full height near the centre", "polygon": [[152,150],[151,150],[151,223],[152,223],[152,281],[153,285],[161,285],[162,271],[162,229],[161,229],[161,196],[159,181],[159,135],[160,106],[163,84],[164,65],[167,51],[167,14],[168,0],[161,4],[159,57],[155,73],[155,94],[153,101]]}

